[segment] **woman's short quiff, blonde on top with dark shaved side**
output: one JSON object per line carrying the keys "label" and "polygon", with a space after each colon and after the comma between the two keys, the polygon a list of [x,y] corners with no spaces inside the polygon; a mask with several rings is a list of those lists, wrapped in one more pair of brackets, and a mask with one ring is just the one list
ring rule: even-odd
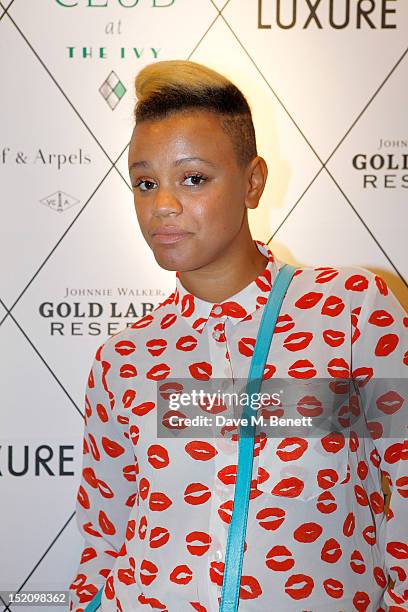
{"label": "woman's short quiff, blonde on top with dark shaved side", "polygon": [[237,161],[245,166],[257,155],[249,104],[227,77],[197,62],[163,60],[148,64],[135,78],[136,124],[178,112],[204,110],[220,118]]}

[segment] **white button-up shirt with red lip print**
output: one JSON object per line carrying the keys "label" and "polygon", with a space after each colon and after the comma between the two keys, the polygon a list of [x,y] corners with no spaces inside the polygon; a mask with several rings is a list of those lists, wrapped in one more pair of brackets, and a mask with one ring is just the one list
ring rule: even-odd
{"label": "white button-up shirt with red lip print", "polygon": [[[176,273],[164,302],[99,346],[85,397],[76,504],[85,542],[70,610],[82,611],[105,583],[102,612],[219,609],[237,436],[225,428],[213,437],[159,437],[156,398],[169,378],[247,379],[283,265],[254,242],[268,263],[234,296],[206,302]],[[398,386],[407,380],[407,320],[385,281],[364,268],[299,268],[264,380],[350,376],[362,397],[367,380]],[[387,392],[363,402],[368,436],[352,425],[342,444],[323,434],[257,433],[240,612],[408,610],[407,402],[398,389]],[[313,398],[302,409],[313,413]],[[381,435],[391,416],[402,428]]]}

